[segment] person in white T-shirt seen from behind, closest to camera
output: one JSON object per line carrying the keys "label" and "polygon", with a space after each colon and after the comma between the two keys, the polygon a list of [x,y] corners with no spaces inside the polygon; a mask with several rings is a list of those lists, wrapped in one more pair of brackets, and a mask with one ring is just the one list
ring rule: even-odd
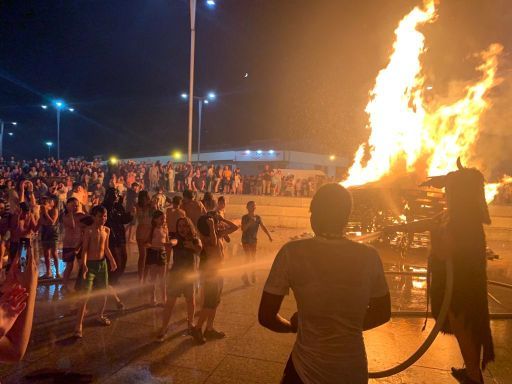
{"label": "person in white T-shirt seen from behind, closest to camera", "polygon": [[[389,321],[391,302],[377,251],[343,235],[351,209],[341,185],[321,187],[310,206],[315,236],[285,244],[270,270],[258,320],[297,332],[282,384],[368,382],[363,331]],[[290,288],[298,312],[286,320],[279,310]]]}

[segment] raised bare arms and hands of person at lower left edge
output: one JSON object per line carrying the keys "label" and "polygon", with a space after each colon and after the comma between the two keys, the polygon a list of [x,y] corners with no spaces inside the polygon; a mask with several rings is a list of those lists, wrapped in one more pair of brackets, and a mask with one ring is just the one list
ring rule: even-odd
{"label": "raised bare arms and hands of person at lower left edge", "polygon": [[18,251],[1,287],[0,362],[3,363],[15,363],[23,358],[32,332],[38,271],[30,244],[27,244],[26,266],[22,269]]}

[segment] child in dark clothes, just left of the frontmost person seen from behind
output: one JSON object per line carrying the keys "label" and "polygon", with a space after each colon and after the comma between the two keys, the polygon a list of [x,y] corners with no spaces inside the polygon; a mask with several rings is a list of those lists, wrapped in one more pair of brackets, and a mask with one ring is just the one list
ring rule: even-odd
{"label": "child in dark clothes, just left of the frontmost person seen from behind", "polygon": [[187,302],[187,322],[189,333],[193,328],[195,313],[195,257],[202,250],[194,224],[188,217],[180,217],[176,223],[177,244],[173,248],[173,263],[168,274],[167,296],[168,301],[164,307],[162,317],[162,329],[158,340],[163,341],[169,327],[172,310],[176,300],[181,295],[185,296]]}

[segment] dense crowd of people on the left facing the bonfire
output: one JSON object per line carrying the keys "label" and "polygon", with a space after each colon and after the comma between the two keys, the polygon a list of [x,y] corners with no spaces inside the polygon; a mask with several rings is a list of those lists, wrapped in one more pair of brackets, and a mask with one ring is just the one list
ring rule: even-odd
{"label": "dense crowd of people on the left facing the bonfire", "polygon": [[[139,283],[149,287],[148,303],[164,308],[158,339],[165,338],[174,304],[182,295],[187,301],[189,334],[198,343],[224,337],[213,325],[223,286],[219,268],[224,243],[239,227],[225,218],[223,196],[217,199],[205,191],[198,200],[198,192],[203,189],[194,188],[194,182],[178,180],[168,184],[167,190],[172,191],[176,185],[182,193],[170,197],[161,184],[160,165],[154,163],[147,172],[145,169],[133,162],[105,167],[100,161],[81,160],[70,160],[65,165],[55,160],[12,160],[0,166],[2,300],[10,300],[5,305],[13,318],[26,309],[27,300],[35,300],[38,279],[47,279],[61,283],[64,295],[79,294],[75,337],[83,336],[92,292],[100,292],[101,297],[97,321],[110,325],[105,314],[107,300],[113,298],[117,308],[124,309],[118,287],[128,259],[127,240],[134,238]],[[129,187],[123,188],[126,183]],[[214,191],[227,193],[226,188],[230,188],[217,187],[212,184]],[[261,218],[254,214],[255,208],[250,202],[248,214],[242,219],[248,261],[254,261],[260,227],[271,239]],[[60,259],[64,271],[59,270]],[[44,260],[41,276],[38,268],[27,267],[38,264],[37,260]],[[71,287],[74,270],[76,279]],[[17,282],[19,271],[30,273],[30,279],[22,280],[32,283],[23,286]],[[241,277],[250,285],[248,276]],[[194,321],[198,293],[201,311]]]}

